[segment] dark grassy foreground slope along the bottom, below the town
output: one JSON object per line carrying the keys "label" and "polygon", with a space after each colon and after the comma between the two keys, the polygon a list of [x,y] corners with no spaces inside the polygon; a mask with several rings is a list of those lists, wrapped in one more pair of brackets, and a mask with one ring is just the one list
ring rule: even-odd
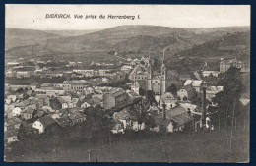
{"label": "dark grassy foreground slope along the bottom, below the town", "polygon": [[[226,136],[229,132],[172,134],[164,138],[125,140],[87,147],[83,142],[68,147],[45,147],[44,152],[25,151],[24,157],[12,161],[88,162],[246,162],[249,160],[248,133],[237,132],[232,139],[232,152]],[[163,152],[163,147],[165,153]]]}

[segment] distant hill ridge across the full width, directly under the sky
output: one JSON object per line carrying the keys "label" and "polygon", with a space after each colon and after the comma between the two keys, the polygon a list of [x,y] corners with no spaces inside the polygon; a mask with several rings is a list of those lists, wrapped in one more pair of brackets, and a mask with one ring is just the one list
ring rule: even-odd
{"label": "distant hill ridge across the full width, directly under the sky", "polygon": [[[164,47],[169,46],[170,52],[176,54],[216,40],[227,33],[249,30],[250,27],[169,28],[140,25],[105,28],[96,31],[87,31],[89,33],[86,34],[83,34],[83,30],[79,32],[73,31],[72,35],[75,36],[65,36],[67,34],[63,33],[69,30],[41,31],[6,28],[6,48],[30,45],[38,42],[40,44],[37,47],[38,51],[45,51],[47,49],[47,51],[55,53],[83,53],[86,51],[107,52],[110,50],[148,51],[149,47],[155,52],[160,52]],[[17,54],[19,53],[19,49],[14,49],[15,52],[12,53],[10,51],[9,53]],[[23,48],[24,54],[27,54],[28,51]]]}

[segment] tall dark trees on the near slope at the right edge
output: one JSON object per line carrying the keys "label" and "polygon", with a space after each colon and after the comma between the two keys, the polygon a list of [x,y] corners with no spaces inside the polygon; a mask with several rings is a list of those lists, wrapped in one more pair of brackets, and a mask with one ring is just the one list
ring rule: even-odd
{"label": "tall dark trees on the near slope at the right edge", "polygon": [[220,130],[228,127],[236,129],[237,126],[244,128],[248,126],[249,104],[243,105],[240,101],[245,92],[241,78],[239,69],[236,68],[230,68],[221,75],[219,84],[224,85],[224,91],[217,93],[213,98],[213,102],[218,107],[212,109],[212,112],[210,110],[212,122]]}

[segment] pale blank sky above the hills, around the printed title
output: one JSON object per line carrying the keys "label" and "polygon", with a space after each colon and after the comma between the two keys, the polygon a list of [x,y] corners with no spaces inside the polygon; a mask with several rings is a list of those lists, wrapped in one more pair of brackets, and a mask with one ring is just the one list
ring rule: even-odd
{"label": "pale blank sky above the hills, around the printed title", "polygon": [[[70,14],[72,19],[47,19],[46,14]],[[74,14],[128,15],[140,19],[74,19]],[[250,26],[248,5],[6,5],[6,28],[42,30],[112,28],[155,25],[176,28]]]}

